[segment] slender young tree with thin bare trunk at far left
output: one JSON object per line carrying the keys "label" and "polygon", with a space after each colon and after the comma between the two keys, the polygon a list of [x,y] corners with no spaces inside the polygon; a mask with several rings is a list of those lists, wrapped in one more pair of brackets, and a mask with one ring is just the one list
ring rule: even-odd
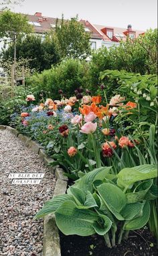
{"label": "slender young tree with thin bare trunk at far left", "polygon": [[[28,24],[28,19],[20,13],[13,13],[9,10],[0,13],[0,38],[7,38],[14,48],[14,69],[16,67],[16,43],[24,34],[31,32],[32,26]],[[15,69],[16,79],[16,69]]]}

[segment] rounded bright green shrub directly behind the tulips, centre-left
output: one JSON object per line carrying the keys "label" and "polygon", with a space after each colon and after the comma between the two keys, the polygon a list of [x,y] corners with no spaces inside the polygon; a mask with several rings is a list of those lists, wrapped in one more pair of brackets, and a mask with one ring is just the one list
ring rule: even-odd
{"label": "rounded bright green shrub directly behind the tulips, centre-left", "polygon": [[42,74],[33,75],[27,81],[33,93],[38,95],[40,91],[46,93],[46,97],[58,99],[58,90],[62,89],[66,97],[71,96],[78,87],[86,88],[88,64],[80,60],[63,60],[60,65],[52,67]]}

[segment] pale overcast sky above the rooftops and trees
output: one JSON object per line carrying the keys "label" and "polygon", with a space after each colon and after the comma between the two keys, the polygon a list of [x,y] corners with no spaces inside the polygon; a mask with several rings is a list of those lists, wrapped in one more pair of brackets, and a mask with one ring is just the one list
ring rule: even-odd
{"label": "pale overcast sky above the rooftops and trees", "polygon": [[48,17],[88,19],[92,24],[147,30],[157,28],[157,0],[25,0],[14,11]]}

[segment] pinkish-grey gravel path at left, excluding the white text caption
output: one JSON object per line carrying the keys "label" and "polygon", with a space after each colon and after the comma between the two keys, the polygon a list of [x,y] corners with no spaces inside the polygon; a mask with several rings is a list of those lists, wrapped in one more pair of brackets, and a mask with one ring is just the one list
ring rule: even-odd
{"label": "pinkish-grey gravel path at left, excluding the white text caption", "polygon": [[[48,171],[48,172],[47,172]],[[9,173],[44,173],[40,185],[11,185]],[[0,255],[42,256],[43,220],[33,220],[52,198],[56,179],[38,155],[0,130]]]}

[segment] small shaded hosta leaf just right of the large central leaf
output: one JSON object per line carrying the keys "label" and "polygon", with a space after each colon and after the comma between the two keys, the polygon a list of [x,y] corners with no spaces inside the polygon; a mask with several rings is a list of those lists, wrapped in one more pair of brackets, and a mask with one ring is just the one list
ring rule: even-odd
{"label": "small shaded hosta leaf just right of the large central leaf", "polygon": [[135,204],[127,204],[121,211],[121,214],[123,215],[125,220],[132,220],[135,216],[137,216],[139,214],[139,212],[141,212],[141,210],[143,210],[144,205],[145,205],[145,202],[143,202],[143,203],[137,202]]}

